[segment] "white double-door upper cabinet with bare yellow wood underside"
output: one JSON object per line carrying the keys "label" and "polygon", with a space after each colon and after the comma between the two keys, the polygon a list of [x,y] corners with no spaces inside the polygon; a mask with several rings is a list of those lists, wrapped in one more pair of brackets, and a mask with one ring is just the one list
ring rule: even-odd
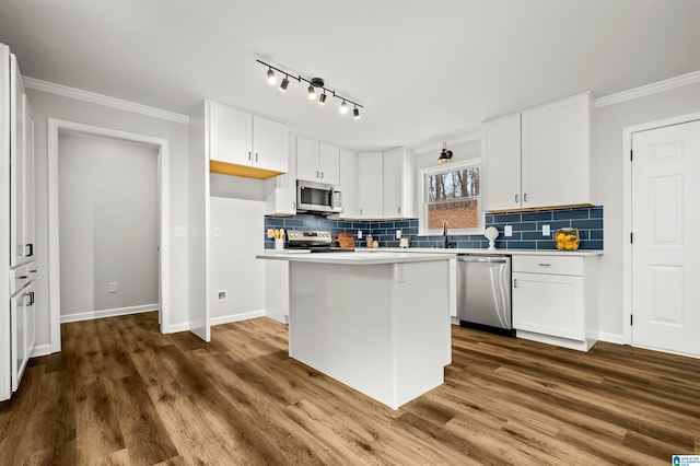
{"label": "white double-door upper cabinet with bare yellow wood underside", "polygon": [[209,170],[267,179],[289,170],[287,125],[206,101]]}

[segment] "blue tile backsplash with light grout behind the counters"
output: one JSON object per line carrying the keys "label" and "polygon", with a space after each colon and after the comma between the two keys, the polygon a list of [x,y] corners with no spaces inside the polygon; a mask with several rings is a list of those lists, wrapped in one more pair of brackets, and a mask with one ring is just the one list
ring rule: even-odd
{"label": "blue tile backsplash with light grout behind the counters", "polygon": [[[505,225],[513,228],[513,236],[505,237]],[[549,225],[551,233],[542,236],[542,225]],[[487,213],[486,226],[495,226],[499,237],[495,247],[499,249],[556,249],[553,232],[562,226],[575,226],[581,234],[579,249],[603,249],[603,206],[540,210],[535,212]],[[265,218],[265,247],[272,248],[273,241],[267,237],[268,229],[284,230],[329,230],[331,236],[338,233],[353,233],[355,245],[365,246],[366,234],[380,242],[380,247],[398,247],[396,230],[411,237],[411,247],[442,247],[443,237],[419,236],[418,219],[396,221],[360,221],[329,220],[323,215],[299,213],[292,217]],[[358,240],[358,230],[362,230],[362,240]],[[452,247],[481,248],[489,247],[483,235],[450,235]]]}

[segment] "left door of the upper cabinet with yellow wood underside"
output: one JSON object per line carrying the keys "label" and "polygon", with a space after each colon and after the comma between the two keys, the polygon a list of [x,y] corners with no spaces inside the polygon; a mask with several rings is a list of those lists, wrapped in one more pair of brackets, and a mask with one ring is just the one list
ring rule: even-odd
{"label": "left door of the upper cabinet with yellow wood underside", "polygon": [[252,165],[253,116],[211,102],[209,118],[210,159],[235,165]]}

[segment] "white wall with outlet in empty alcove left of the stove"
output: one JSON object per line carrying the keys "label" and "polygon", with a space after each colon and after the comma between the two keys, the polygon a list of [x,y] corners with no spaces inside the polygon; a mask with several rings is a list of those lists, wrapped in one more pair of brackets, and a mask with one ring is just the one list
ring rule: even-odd
{"label": "white wall with outlet in empty alcove left of the stove", "polygon": [[[235,184],[240,178],[230,177]],[[265,315],[265,202],[225,197],[210,198],[209,296],[211,324],[225,324]],[[217,293],[225,290],[228,301]]]}

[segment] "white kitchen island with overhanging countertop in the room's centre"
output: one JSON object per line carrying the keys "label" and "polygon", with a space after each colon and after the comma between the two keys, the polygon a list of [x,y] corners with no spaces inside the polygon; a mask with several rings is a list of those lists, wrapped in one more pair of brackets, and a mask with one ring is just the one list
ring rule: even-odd
{"label": "white kitchen island with overhanging countertop in the room's centre", "polygon": [[452,357],[448,256],[278,253],[289,261],[289,356],[398,409]]}

